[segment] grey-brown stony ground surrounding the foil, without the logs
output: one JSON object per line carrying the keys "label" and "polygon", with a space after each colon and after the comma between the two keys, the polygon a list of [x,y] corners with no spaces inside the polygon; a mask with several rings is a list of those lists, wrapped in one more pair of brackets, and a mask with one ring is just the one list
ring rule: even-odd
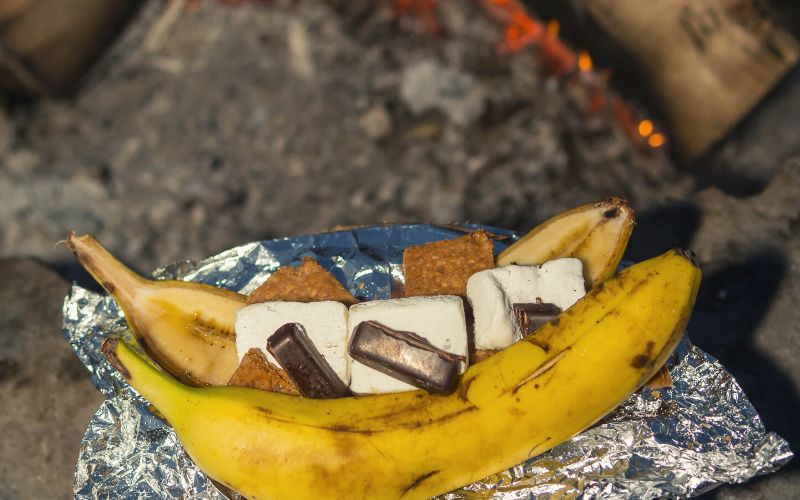
{"label": "grey-brown stony ground surrounding the foil, without the logs", "polygon": [[[149,271],[335,225],[524,231],[608,195],[637,210],[629,258],[698,253],[692,338],[800,448],[797,72],[692,172],[498,56],[471,3],[442,2],[444,37],[370,2],[198,4],[168,22],[151,3],[75,99],[0,115],[0,421],[19,429],[0,497],[69,497],[101,400],[60,332],[68,280],[88,283],[54,246],[70,229]],[[797,464],[710,496],[800,496]]]}

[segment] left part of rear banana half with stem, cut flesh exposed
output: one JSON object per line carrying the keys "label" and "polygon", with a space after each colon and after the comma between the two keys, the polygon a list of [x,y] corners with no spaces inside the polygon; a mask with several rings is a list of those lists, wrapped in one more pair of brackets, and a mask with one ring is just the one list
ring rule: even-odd
{"label": "left part of rear banana half with stem, cut flesh exposed", "polygon": [[70,233],[67,246],[114,296],[141,346],[182,382],[225,385],[239,359],[234,322],[243,295],[199,283],[149,280],[117,260],[91,235]]}

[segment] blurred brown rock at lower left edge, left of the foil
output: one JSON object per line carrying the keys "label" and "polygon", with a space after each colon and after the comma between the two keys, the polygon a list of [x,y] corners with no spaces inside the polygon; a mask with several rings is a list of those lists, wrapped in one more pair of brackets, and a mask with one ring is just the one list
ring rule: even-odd
{"label": "blurred brown rock at lower left edge, left of the foil", "polygon": [[32,259],[0,260],[0,275],[0,497],[72,498],[103,396],[61,333],[69,285]]}

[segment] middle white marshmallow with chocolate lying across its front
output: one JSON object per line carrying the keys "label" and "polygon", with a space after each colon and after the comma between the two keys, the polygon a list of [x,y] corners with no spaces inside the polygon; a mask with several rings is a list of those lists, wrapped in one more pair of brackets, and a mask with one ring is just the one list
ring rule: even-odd
{"label": "middle white marshmallow with chocolate lying across its front", "polygon": [[[467,356],[467,324],[460,297],[438,295],[373,300],[350,306],[347,331],[363,321],[377,321],[394,330],[413,332],[452,354]],[[350,390],[356,394],[413,391],[416,387],[351,360]],[[466,363],[462,366],[462,373]]]}

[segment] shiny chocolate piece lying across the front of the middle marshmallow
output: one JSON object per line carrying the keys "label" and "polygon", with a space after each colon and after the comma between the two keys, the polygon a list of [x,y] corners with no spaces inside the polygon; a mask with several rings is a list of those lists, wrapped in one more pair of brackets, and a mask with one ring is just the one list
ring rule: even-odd
{"label": "shiny chocolate piece lying across the front of the middle marshmallow", "polygon": [[456,389],[461,363],[466,361],[415,333],[393,330],[377,321],[356,326],[348,352],[370,368],[436,394]]}

